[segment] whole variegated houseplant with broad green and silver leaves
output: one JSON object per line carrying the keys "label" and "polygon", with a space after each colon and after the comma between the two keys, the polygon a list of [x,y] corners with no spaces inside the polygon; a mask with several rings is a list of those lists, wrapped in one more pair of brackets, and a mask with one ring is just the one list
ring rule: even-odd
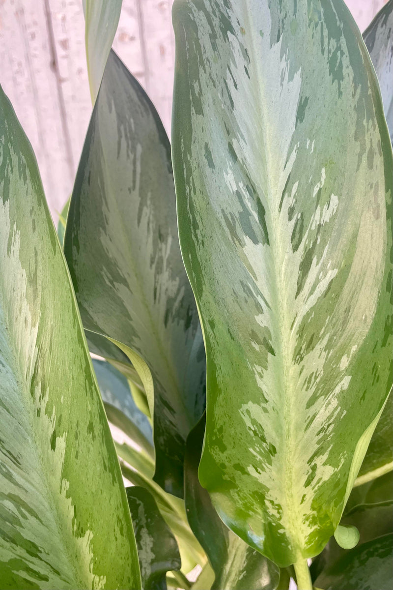
{"label": "whole variegated houseplant with broad green and silver leaves", "polygon": [[[371,54],[391,55],[392,4]],[[75,179],[69,271],[1,95],[1,585],[162,588],[177,540],[204,566],[195,587],[372,588],[378,563],[388,588],[392,152],[371,60],[338,1],[178,1],[174,25],[197,305],[169,141],[117,56]],[[116,449],[127,494],[87,342],[108,359],[108,418],[136,443]]]}

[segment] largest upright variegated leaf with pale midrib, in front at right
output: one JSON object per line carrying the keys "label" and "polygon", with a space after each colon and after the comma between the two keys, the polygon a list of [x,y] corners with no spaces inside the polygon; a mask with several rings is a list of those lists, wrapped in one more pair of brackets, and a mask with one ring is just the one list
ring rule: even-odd
{"label": "largest upright variegated leaf with pale midrib, in front at right", "polygon": [[176,0],[173,22],[199,478],[284,567],[338,526],[391,385],[391,144],[343,2]]}

